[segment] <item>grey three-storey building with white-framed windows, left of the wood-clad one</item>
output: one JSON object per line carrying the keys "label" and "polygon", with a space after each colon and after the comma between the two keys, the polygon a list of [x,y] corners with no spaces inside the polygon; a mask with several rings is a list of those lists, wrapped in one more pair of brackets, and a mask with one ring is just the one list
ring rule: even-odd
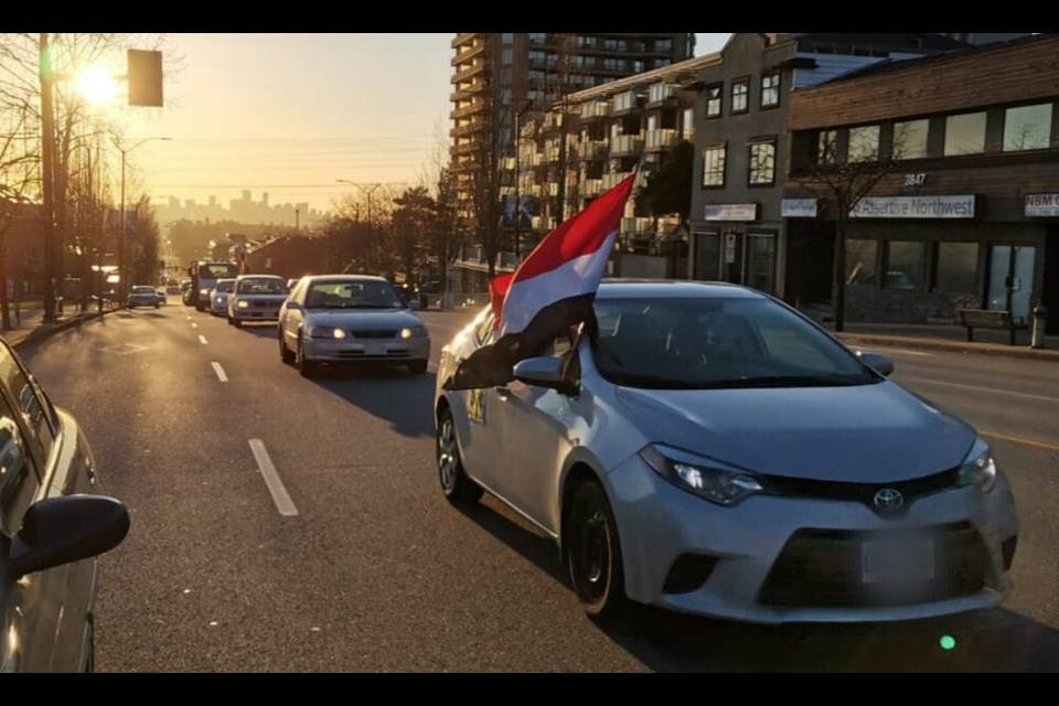
{"label": "grey three-storey building with white-framed windows, left of the wood-clad one", "polygon": [[[966,44],[940,34],[737,33],[689,86],[696,145],[686,276],[782,296],[792,95],[836,76]],[[787,211],[784,211],[787,210]]]}

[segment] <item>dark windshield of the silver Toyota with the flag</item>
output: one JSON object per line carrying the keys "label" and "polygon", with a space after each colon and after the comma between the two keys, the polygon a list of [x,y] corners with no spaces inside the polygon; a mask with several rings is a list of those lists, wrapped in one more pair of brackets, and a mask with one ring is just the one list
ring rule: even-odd
{"label": "dark windshield of the silver Toyota with the flag", "polygon": [[599,299],[596,367],[655,389],[834,387],[884,378],[767,299]]}

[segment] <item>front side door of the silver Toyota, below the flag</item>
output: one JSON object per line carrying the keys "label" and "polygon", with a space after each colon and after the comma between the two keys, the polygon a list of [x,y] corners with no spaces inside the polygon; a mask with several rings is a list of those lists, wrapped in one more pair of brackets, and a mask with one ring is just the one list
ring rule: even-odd
{"label": "front side door of the silver Toyota, below the flag", "polygon": [[[564,333],[544,353],[565,361],[567,379],[575,384],[577,341],[576,331]],[[491,393],[503,438],[495,463],[498,492],[535,523],[557,532],[558,469],[584,428],[582,403],[566,392],[518,381]]]}

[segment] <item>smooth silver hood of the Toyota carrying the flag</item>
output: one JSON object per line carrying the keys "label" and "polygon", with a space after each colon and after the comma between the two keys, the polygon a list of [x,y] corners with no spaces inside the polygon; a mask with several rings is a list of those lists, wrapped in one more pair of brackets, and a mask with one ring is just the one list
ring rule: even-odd
{"label": "smooth silver hood of the Toyota carrying the flag", "polygon": [[617,398],[652,441],[789,478],[921,478],[962,463],[976,436],[891,381],[780,389],[619,387]]}

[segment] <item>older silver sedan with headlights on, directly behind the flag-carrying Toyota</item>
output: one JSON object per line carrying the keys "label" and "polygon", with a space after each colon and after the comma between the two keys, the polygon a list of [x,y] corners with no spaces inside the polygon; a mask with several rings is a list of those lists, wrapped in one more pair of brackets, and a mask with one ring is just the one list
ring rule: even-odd
{"label": "older silver sedan with headlights on, directly behind the flag-carrying Toyota", "polygon": [[304,376],[321,363],[399,363],[427,372],[430,334],[383,277],[302,277],[279,312],[279,355]]}

